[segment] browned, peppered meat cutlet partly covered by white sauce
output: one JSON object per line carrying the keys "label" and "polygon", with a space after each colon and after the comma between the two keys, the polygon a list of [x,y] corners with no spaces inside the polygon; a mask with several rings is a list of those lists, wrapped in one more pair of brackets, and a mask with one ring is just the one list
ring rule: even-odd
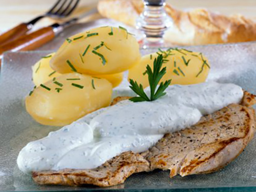
{"label": "browned, peppered meat cutlet partly covered by white sauce", "polygon": [[[114,103],[124,99],[128,97],[118,97]],[[217,171],[252,139],[255,120],[250,106],[254,103],[255,96],[245,92],[240,105],[230,104],[185,130],[165,134],[146,152],[124,152],[92,170],[33,172],[33,179],[39,184],[107,187],[123,183],[133,173],[154,169],[170,170],[170,177]]]}

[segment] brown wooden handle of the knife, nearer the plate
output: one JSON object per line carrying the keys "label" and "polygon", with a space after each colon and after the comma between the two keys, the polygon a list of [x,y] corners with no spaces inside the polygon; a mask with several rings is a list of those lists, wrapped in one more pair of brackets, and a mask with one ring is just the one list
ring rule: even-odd
{"label": "brown wooden handle of the knife, nearer the plate", "polygon": [[51,41],[54,38],[52,27],[41,28],[31,34],[23,35],[20,38],[0,46],[0,59],[6,51],[30,51],[34,50],[43,44]]}

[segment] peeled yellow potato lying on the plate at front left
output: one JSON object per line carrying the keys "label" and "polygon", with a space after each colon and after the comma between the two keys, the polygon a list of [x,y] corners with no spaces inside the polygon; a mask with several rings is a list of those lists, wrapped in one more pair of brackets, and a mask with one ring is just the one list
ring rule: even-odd
{"label": "peeled yellow potato lying on the plate at front left", "polygon": [[78,73],[56,77],[26,97],[28,113],[40,124],[63,126],[110,104],[112,84]]}

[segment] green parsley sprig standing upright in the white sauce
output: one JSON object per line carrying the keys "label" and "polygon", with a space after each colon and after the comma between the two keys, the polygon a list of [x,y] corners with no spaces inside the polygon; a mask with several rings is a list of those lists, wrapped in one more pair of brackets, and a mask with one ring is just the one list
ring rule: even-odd
{"label": "green parsley sprig standing upright in the white sauce", "polygon": [[[150,87],[150,99],[148,98],[147,94],[143,90],[142,84],[138,85],[138,83],[130,79],[130,88],[132,91],[139,95],[138,97],[132,97],[129,100],[133,102],[140,102],[140,101],[153,101],[157,100],[159,97],[162,97],[166,94],[164,90],[171,84],[171,79],[165,81],[164,83],[161,82],[159,87],[156,90],[158,83],[160,82],[161,78],[166,73],[166,67],[162,68],[163,65],[163,55],[160,54],[154,60],[153,71],[149,65],[147,65],[146,74],[148,74],[148,82]],[[162,69],[161,69],[162,68]]]}

